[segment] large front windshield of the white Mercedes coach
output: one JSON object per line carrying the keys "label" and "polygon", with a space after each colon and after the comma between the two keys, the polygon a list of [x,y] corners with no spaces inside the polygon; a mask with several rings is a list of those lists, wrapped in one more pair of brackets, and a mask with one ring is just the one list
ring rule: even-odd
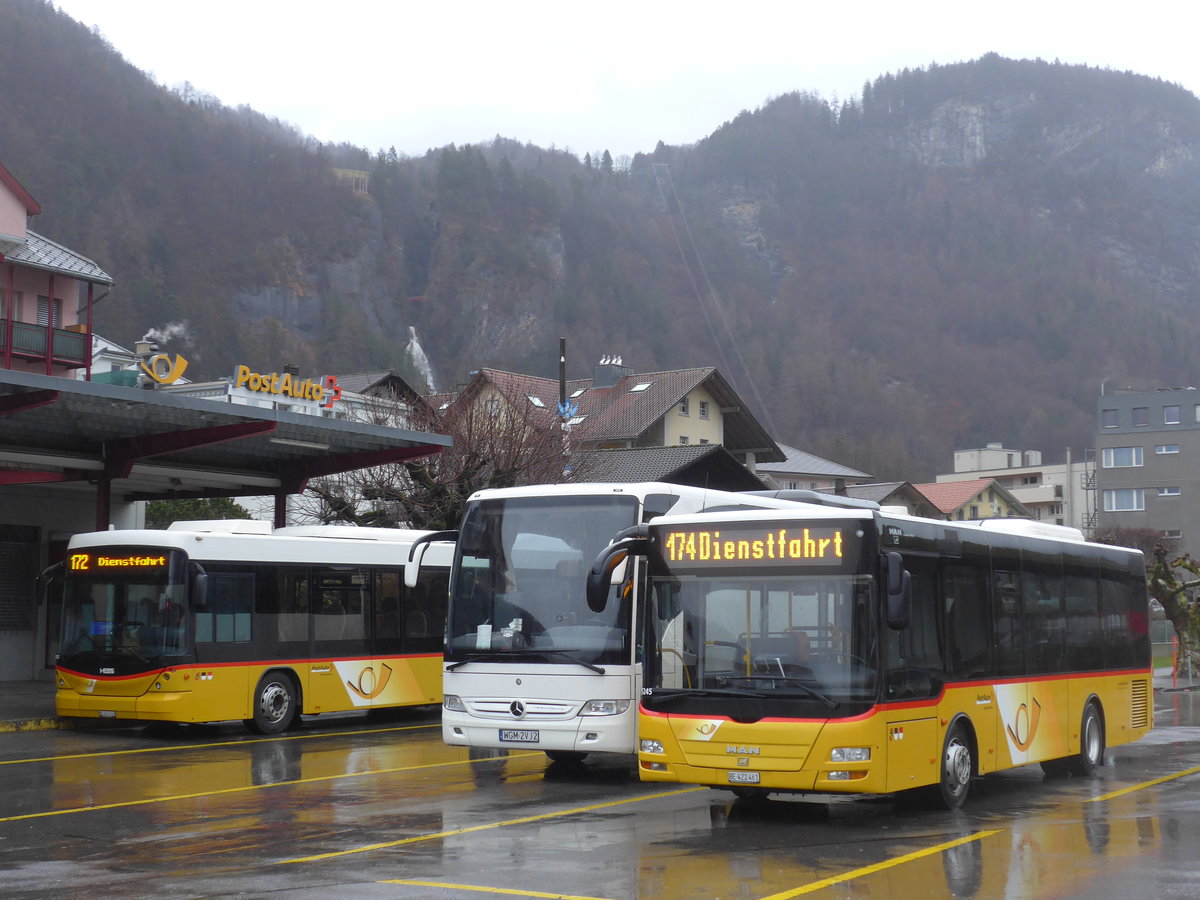
{"label": "large front windshield of the white Mercedes coach", "polygon": [[588,608],[588,566],[612,535],[637,522],[637,498],[523,497],[480,500],[458,533],[448,662],[629,664],[625,594],[602,613]]}

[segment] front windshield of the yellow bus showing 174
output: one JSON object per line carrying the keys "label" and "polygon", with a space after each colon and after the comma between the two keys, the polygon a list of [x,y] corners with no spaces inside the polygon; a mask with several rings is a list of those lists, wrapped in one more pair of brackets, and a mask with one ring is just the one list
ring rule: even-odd
{"label": "front windshield of the yellow bus showing 174", "polygon": [[876,695],[870,576],[671,575],[652,587],[654,649],[644,684],[655,700],[744,691],[862,703]]}

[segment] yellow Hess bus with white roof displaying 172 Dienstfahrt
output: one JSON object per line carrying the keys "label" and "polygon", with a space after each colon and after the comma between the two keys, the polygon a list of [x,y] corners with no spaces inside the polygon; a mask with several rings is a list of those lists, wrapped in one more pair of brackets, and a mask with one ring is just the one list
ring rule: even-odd
{"label": "yellow Hess bus with white roof displaying 172 Dienstfahrt", "polygon": [[428,535],[244,520],[77,534],[43,576],[62,592],[56,712],[275,733],[439,703],[454,546],[431,544],[404,584]]}

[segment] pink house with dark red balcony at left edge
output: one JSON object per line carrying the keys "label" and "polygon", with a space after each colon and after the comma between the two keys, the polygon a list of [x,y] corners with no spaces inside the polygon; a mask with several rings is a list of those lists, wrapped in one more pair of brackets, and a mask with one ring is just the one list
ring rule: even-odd
{"label": "pink house with dark red balcony at left edge", "polygon": [[29,218],[41,211],[0,164],[0,368],[90,373],[91,311],[113,280],[86,257],[30,230]]}

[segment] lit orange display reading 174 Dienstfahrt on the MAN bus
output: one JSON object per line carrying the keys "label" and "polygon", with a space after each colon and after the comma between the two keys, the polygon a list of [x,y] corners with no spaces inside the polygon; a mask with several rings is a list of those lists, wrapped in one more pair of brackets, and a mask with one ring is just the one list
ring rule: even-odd
{"label": "lit orange display reading 174 Dienstfahrt on the MAN bus", "polygon": [[773,524],[664,530],[662,550],[667,563],[841,565],[846,542],[842,528]]}

